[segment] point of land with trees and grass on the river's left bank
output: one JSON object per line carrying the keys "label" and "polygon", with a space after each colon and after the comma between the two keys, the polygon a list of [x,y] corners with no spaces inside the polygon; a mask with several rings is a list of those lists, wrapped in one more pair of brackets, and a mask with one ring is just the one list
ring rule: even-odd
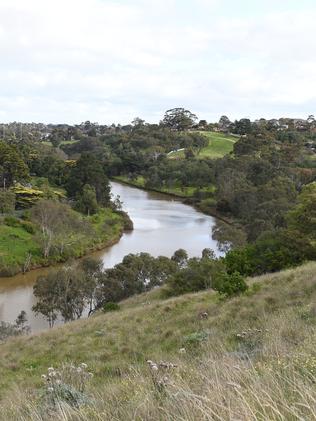
{"label": "point of land with trees and grass on the river's left bank", "polygon": [[102,161],[0,141],[0,276],[65,262],[131,229]]}

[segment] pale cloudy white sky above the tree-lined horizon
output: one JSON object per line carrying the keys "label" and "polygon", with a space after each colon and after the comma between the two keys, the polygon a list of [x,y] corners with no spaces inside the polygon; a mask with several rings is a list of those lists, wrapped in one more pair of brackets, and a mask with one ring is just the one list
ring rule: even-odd
{"label": "pale cloudy white sky above the tree-lined horizon", "polygon": [[315,0],[0,0],[0,121],[316,114]]}

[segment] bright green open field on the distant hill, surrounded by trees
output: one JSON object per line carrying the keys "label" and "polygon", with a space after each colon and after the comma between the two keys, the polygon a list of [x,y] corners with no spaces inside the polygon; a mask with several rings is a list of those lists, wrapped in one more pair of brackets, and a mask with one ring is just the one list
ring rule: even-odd
{"label": "bright green open field on the distant hill, surrounded by trees", "polygon": [[[209,144],[201,150],[197,158],[222,158],[229,154],[238,140],[237,136],[217,132],[200,132],[209,139]],[[174,152],[169,155],[170,159],[184,158],[184,151]]]}

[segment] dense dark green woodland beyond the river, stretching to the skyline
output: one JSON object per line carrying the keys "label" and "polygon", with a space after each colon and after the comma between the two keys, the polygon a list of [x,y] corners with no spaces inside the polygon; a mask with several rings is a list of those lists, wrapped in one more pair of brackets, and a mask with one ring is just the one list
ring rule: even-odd
{"label": "dense dark green woodland beyond the river, stretching to the skyline", "polygon": [[[231,122],[223,116],[211,126],[182,108],[168,110],[159,124],[136,118],[126,126],[43,126],[40,130],[49,134],[45,142],[32,136],[19,139],[15,125],[15,135],[0,145],[1,209],[8,213],[24,203],[34,206],[62,189],[68,206],[93,215],[100,207],[112,206],[108,180],[121,176],[145,188],[178,192],[204,212],[233,222],[218,223],[214,236],[223,250],[238,248],[247,254],[253,263],[245,273],[278,270],[291,260],[297,264],[313,256],[313,241],[294,228],[290,215],[300,212],[305,188],[313,189],[316,180],[315,126],[313,116],[256,122]],[[203,131],[209,129],[240,136],[230,154],[200,158],[208,145]],[[184,157],[170,159],[168,154],[179,149]],[[31,181],[34,187],[34,177],[46,178],[54,189],[44,191],[44,197],[40,188],[17,192],[17,182],[25,187]],[[312,221],[308,224],[314,229]],[[289,244],[296,244],[299,252],[289,250]],[[283,257],[272,257],[271,250]],[[261,256],[260,261],[255,256]]]}

